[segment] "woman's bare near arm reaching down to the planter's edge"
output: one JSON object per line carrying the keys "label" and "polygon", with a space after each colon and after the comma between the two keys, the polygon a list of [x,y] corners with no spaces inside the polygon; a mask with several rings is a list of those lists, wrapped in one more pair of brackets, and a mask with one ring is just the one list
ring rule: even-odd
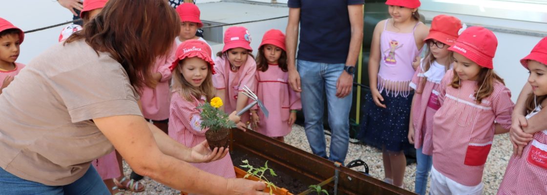
{"label": "woman's bare near arm reaching down to the planter's edge", "polygon": [[[265,194],[256,192],[256,190],[264,189],[265,185],[262,183],[226,180],[165,155],[157,143],[166,142],[166,145],[174,145],[174,140],[168,140],[165,133],[159,129],[153,128],[155,130],[151,132],[147,122],[141,116],[102,117],[94,119],[94,122],[135,172],[149,176],[161,184],[199,194],[226,194],[227,192],[229,194],[238,194],[236,192]],[[154,134],[163,134],[157,138],[160,142],[156,142]],[[170,152],[169,147],[163,148]],[[183,146],[178,149],[185,150],[184,153],[192,152],[192,150],[188,152],[188,149],[184,149]],[[219,159],[223,156],[220,152],[214,155],[211,153],[211,155],[213,156],[211,159]]]}

